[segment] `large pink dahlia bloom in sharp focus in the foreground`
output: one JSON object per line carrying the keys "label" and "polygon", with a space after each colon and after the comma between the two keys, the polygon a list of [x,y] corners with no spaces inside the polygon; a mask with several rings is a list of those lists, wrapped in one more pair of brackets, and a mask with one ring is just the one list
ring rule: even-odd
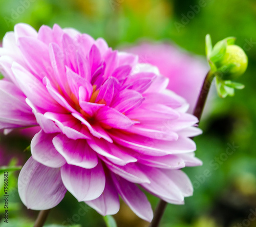
{"label": "large pink dahlia bloom in sharp focus in the foreground", "polygon": [[111,215],[120,195],[151,221],[140,188],[176,204],[193,193],[180,169],[201,164],[189,139],[198,120],[157,67],[58,25],[16,25],[0,55],[0,128],[41,128],[18,179],[29,209],[50,209],[68,190]]}

